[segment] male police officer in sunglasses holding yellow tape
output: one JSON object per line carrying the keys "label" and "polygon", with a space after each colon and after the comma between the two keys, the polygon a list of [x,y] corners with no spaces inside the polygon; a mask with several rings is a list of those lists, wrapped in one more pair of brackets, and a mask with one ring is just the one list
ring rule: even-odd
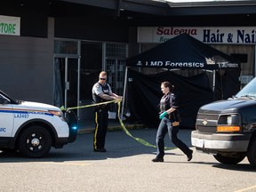
{"label": "male police officer in sunglasses holding yellow tape", "polygon": [[[99,81],[92,87],[92,100],[94,103],[105,102],[108,100],[122,100],[121,96],[111,91],[107,84],[107,73],[100,72]],[[108,130],[108,109],[109,104],[99,105],[94,108],[95,132],[93,137],[94,152],[106,152],[105,138]]]}

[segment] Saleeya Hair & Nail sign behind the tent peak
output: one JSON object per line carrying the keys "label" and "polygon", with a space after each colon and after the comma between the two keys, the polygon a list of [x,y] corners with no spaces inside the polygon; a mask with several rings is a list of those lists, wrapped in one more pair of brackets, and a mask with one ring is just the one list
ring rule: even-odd
{"label": "Saleeya Hair & Nail sign behind the tent peak", "polygon": [[182,33],[205,44],[256,44],[256,27],[139,27],[138,43],[163,43]]}

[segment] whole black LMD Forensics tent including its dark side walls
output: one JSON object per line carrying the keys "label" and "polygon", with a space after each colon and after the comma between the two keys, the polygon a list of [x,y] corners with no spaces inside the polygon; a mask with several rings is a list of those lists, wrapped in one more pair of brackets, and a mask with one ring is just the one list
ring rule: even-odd
{"label": "whole black LMD Forensics tent including its dark side walls", "polygon": [[[214,73],[214,84],[206,74],[182,77],[168,71],[143,75],[132,70],[125,77],[127,102],[133,120],[156,126],[159,122],[157,103],[163,93],[160,84],[170,81],[180,98],[181,127],[195,128],[198,108],[213,100],[228,99],[240,89],[240,63],[227,54],[204,44],[192,36],[181,34],[163,44],[126,60],[126,66],[140,68],[207,69]],[[221,70],[218,70],[221,69]],[[216,77],[216,78],[215,78]],[[124,89],[125,92],[125,89]]]}

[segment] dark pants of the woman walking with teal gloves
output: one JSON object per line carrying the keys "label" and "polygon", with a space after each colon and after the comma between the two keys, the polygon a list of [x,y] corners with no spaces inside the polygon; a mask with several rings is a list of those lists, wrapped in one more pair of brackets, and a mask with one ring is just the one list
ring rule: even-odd
{"label": "dark pants of the woman walking with teal gloves", "polygon": [[157,129],[156,133],[156,147],[157,147],[157,157],[164,157],[164,136],[168,132],[170,140],[172,140],[172,143],[180,148],[180,150],[188,155],[190,153],[190,149],[188,146],[182,142],[178,138],[178,132],[179,132],[179,126],[172,126],[172,122],[170,119],[164,117]]}

